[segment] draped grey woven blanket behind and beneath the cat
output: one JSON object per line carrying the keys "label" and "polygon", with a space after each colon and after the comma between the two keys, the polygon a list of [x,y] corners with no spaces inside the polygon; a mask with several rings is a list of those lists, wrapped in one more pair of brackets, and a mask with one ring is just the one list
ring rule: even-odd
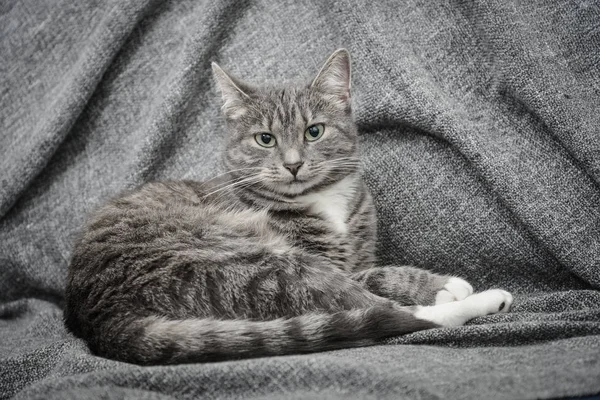
{"label": "draped grey woven blanket behind and beneath the cat", "polygon": [[[554,398],[600,393],[596,1],[0,2],[0,397]],[[382,263],[512,291],[512,313],[380,346],[144,368],[62,324],[86,213],[206,179],[210,61],[247,79],[353,55]]]}

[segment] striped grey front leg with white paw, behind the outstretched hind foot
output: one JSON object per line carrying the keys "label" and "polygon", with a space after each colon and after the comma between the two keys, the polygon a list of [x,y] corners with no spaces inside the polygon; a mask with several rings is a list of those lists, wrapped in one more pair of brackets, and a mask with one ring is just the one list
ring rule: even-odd
{"label": "striped grey front leg with white paw, behind the outstretched hind foot", "polygon": [[350,277],[371,293],[403,305],[444,304],[473,294],[473,287],[464,279],[414,267],[375,267]]}

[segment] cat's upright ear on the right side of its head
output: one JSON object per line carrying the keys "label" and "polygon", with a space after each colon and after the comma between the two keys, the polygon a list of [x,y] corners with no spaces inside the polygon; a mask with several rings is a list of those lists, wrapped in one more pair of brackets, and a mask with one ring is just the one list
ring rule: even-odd
{"label": "cat's upright ear on the right side of its head", "polygon": [[325,61],[310,86],[343,100],[350,99],[351,72],[348,50],[338,49],[334,51]]}

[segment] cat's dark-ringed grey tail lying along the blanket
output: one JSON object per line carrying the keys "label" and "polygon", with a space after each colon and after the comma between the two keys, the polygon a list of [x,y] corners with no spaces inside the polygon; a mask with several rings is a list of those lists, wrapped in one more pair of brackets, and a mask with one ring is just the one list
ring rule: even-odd
{"label": "cat's dark-ringed grey tail lying along the blanket", "polygon": [[129,325],[138,326],[135,333],[125,329],[112,344],[102,340],[99,352],[147,365],[208,362],[368,346],[437,326],[392,305],[271,321],[150,317],[137,322]]}

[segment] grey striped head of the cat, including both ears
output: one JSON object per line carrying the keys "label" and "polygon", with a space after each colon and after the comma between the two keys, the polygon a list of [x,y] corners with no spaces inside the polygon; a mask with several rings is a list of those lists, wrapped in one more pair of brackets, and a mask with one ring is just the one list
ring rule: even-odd
{"label": "grey striped head of the cat, including both ears", "polygon": [[304,84],[254,85],[215,63],[213,72],[229,130],[224,164],[240,187],[296,196],[357,171],[347,50]]}

